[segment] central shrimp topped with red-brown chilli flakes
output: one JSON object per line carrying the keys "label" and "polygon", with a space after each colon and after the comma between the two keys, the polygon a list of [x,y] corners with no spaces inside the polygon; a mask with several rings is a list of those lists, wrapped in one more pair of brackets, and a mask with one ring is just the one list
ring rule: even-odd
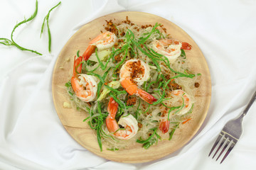
{"label": "central shrimp topped with red-brown chilli flakes", "polygon": [[120,69],[120,83],[129,95],[137,95],[147,103],[157,101],[154,96],[139,89],[149,79],[149,66],[142,60],[128,60]]}

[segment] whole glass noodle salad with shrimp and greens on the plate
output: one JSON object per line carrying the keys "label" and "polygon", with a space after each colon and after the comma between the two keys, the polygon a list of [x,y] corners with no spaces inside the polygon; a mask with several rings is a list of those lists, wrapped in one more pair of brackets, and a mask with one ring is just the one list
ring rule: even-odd
{"label": "whole glass noodle salad with shrimp and greens on the plate", "polygon": [[[107,21],[107,31],[74,59],[65,84],[71,101],[87,112],[100,149],[135,143],[145,149],[171,140],[191,120],[198,76],[186,59],[187,42],[174,40],[161,24]],[[81,120],[82,121],[82,120]]]}

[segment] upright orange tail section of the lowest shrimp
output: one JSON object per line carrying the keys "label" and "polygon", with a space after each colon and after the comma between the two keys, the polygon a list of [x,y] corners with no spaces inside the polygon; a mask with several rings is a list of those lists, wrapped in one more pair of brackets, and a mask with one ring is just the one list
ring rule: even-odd
{"label": "upright orange tail section of the lowest shrimp", "polygon": [[106,118],[107,130],[109,130],[109,132],[115,132],[116,130],[119,129],[117,120],[115,120],[115,116],[117,114],[117,108],[118,108],[118,103],[114,101],[113,98],[110,98],[110,101],[107,106],[107,112],[109,113],[109,115]]}

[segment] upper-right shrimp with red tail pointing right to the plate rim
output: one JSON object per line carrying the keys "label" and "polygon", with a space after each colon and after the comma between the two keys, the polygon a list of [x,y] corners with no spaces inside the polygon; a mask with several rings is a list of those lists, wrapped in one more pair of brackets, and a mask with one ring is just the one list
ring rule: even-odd
{"label": "upper-right shrimp with red tail pointing right to the plate rim", "polygon": [[181,49],[191,50],[191,45],[188,42],[180,42],[174,39],[154,40],[152,45],[153,49],[159,54],[166,56],[169,62],[175,62],[178,56],[181,55]]}

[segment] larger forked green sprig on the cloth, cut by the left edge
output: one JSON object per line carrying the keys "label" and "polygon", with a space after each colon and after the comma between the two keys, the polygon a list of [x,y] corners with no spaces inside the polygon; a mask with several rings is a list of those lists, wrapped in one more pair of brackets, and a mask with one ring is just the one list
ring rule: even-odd
{"label": "larger forked green sprig on the cloth, cut by the left edge", "polygon": [[25,48],[25,47],[21,47],[20,45],[18,45],[18,44],[14,41],[14,31],[16,30],[16,28],[18,28],[18,26],[21,26],[23,23],[27,23],[27,22],[29,22],[29,21],[32,21],[33,18],[36,17],[37,12],[38,12],[38,1],[36,0],[36,10],[35,10],[35,12],[33,13],[33,15],[32,15],[30,18],[28,18],[28,19],[25,18],[25,20],[21,21],[20,23],[17,23],[17,24],[14,26],[14,29],[13,29],[12,32],[11,32],[11,40],[9,40],[8,38],[0,38],[0,43],[1,43],[2,45],[7,45],[7,46],[13,45],[13,46],[17,47],[19,50],[30,51],[30,52],[36,53],[37,55],[42,55],[41,53],[36,52],[36,50],[29,50],[29,49],[27,49],[27,48]]}

